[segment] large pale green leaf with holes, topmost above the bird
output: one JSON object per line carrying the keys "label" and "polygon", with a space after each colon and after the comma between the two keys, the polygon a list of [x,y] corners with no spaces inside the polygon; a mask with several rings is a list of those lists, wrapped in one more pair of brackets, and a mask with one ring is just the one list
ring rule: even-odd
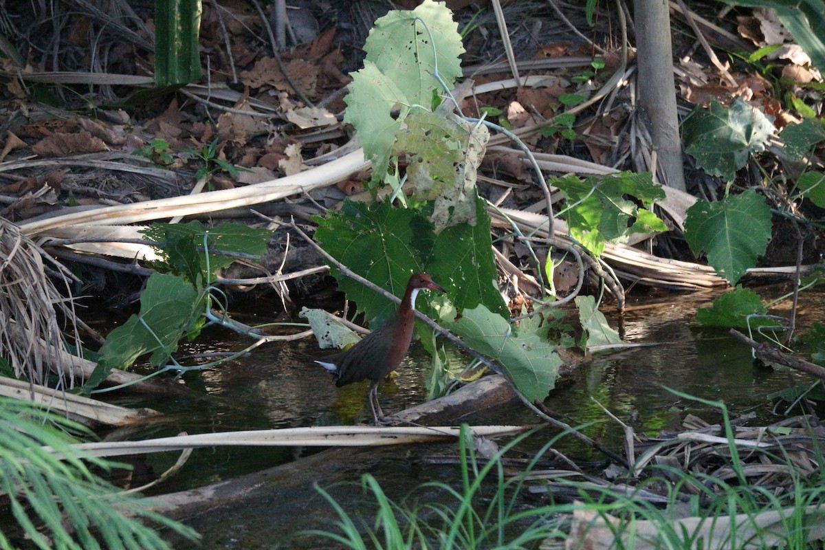
{"label": "large pale green leaf with holes, topmost above the bird", "polygon": [[427,110],[433,92],[443,89],[432,75],[452,89],[461,76],[464,48],[452,12],[443,2],[424,0],[413,11],[394,10],[375,21],[364,49],[364,68],[351,73],[344,98],[344,121],[355,126],[374,181],[384,181],[391,158],[398,165],[393,143],[410,110]]}

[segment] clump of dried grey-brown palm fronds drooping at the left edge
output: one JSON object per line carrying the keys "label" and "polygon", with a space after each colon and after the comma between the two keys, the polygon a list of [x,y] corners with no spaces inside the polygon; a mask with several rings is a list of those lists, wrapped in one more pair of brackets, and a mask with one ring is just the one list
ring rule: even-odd
{"label": "clump of dried grey-brown palm fronds drooping at the left edge", "polygon": [[[66,284],[68,298],[46,276],[47,262]],[[59,319],[79,341],[68,285],[71,279],[68,270],[21,234],[20,228],[0,218],[0,360],[8,361],[17,378],[47,385],[52,366],[59,372],[60,385],[71,387],[71,369],[59,369],[65,346]]]}

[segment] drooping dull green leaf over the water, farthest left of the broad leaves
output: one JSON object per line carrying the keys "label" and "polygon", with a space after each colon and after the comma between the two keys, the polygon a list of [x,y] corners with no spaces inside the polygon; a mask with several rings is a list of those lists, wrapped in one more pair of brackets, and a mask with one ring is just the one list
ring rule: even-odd
{"label": "drooping dull green leaf over the water, farthest left of the broad leaves", "polygon": [[177,350],[181,335],[200,319],[202,301],[194,286],[177,275],[153,273],[140,295],[140,313],[106,336],[98,352],[101,369],[125,369],[140,355],[159,367]]}

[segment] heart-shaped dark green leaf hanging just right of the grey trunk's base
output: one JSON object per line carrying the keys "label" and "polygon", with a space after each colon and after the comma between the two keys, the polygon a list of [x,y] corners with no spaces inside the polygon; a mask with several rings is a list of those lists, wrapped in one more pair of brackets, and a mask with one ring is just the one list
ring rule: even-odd
{"label": "heart-shaped dark green leaf hanging just right of the grey trunk's base", "polygon": [[765,253],[771,209],[753,187],[716,202],[697,200],[687,209],[685,238],[695,254],[707,251],[720,277],[736,284]]}

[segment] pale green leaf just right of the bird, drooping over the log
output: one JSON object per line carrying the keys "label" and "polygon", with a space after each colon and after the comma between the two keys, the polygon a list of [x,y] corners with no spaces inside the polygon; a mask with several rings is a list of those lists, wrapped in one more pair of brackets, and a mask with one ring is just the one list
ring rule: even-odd
{"label": "pale green leaf just right of the bird, drooping over the log", "polygon": [[465,344],[501,364],[530,402],[544,399],[553,389],[562,360],[555,346],[535,332],[521,334],[483,306],[464,310],[450,330]]}

